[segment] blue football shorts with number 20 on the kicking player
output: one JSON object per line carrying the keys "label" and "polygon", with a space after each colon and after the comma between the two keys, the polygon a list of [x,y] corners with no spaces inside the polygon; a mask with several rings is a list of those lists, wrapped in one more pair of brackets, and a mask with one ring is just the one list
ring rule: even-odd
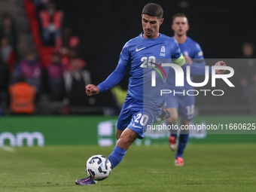
{"label": "blue football shorts with number 20 on the kicking player", "polygon": [[117,129],[125,130],[128,127],[139,134],[139,139],[143,139],[148,126],[154,123],[161,111],[161,107],[145,105],[127,94],[117,120]]}

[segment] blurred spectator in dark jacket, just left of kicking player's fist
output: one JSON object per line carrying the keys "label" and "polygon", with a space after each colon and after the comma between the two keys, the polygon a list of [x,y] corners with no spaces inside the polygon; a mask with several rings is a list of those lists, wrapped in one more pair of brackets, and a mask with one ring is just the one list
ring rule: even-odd
{"label": "blurred spectator in dark jacket, just left of kicking player's fist", "polygon": [[71,71],[64,74],[66,93],[69,105],[90,106],[94,105],[95,99],[87,96],[84,87],[90,84],[90,72],[83,69],[85,62],[81,59],[72,59]]}

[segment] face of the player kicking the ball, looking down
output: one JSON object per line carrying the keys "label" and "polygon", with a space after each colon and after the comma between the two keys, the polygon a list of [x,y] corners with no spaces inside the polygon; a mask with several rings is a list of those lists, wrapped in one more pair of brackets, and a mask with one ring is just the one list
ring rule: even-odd
{"label": "face of the player kicking the ball, looking down", "polygon": [[159,33],[160,25],[163,23],[162,19],[157,19],[157,17],[148,16],[147,14],[142,14],[142,28],[144,38],[157,38]]}

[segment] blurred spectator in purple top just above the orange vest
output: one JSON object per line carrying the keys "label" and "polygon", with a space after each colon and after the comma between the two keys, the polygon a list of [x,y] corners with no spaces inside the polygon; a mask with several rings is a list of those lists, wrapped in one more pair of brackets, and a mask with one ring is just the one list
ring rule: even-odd
{"label": "blurred spectator in purple top just above the orange vest", "polygon": [[21,74],[25,75],[26,83],[35,86],[37,93],[41,93],[41,65],[34,51],[27,53],[26,59],[23,59],[17,66],[15,78]]}

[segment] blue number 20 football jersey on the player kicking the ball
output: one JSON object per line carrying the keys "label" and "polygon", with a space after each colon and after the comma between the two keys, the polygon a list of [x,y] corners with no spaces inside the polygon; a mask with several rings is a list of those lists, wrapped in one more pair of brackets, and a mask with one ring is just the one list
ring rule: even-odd
{"label": "blue number 20 football jersey on the player kicking the ball", "polygon": [[[143,38],[142,34],[124,45],[118,65],[131,67],[130,96],[148,105],[163,106],[164,96],[160,96],[160,90],[164,89],[171,68],[162,67],[162,63],[170,63],[174,59],[174,63],[183,66],[184,57],[174,38],[160,34],[158,38],[148,39]],[[155,87],[152,87],[152,74]]]}

